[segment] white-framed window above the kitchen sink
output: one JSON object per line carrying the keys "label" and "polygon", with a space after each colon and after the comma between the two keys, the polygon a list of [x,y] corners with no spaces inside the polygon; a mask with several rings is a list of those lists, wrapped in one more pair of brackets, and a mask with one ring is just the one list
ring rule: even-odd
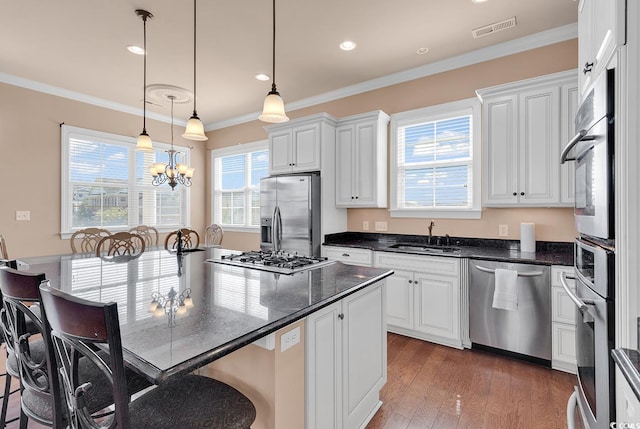
{"label": "white-framed window above the kitchen sink", "polygon": [[391,216],[480,218],[480,103],[391,117]]}

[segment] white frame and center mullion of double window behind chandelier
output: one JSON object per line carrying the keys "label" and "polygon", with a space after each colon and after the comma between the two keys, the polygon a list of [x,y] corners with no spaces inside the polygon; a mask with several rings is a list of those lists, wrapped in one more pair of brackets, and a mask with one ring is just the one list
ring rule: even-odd
{"label": "white frame and center mullion of double window behind chandelier", "polygon": [[[129,202],[128,207],[138,208],[137,195],[138,184],[136,182],[136,138],[130,136],[123,136],[119,134],[113,134],[103,131],[91,130],[88,128],[80,128],[74,127],[71,125],[62,124],[61,125],[61,206],[60,206],[60,237],[62,239],[69,239],[71,235],[76,231],[76,229],[72,228],[72,213],[69,208],[72,204],[70,187],[72,186],[70,180],[70,165],[69,165],[69,154],[70,147],[69,142],[71,138],[80,138],[80,139],[94,139],[96,141],[106,143],[106,144],[114,144],[120,145],[127,148],[129,161],[128,161],[128,178],[127,178],[127,186],[129,191],[133,191],[129,193]],[[164,151],[171,149],[171,145],[162,142],[153,142],[155,151]],[[178,150],[183,154],[184,162],[188,165],[191,165],[191,149],[184,146],[179,146]],[[148,171],[143,174],[150,174]],[[163,184],[160,186],[169,186],[168,184]],[[182,186],[182,185],[178,185]],[[191,191],[189,188],[185,187],[184,189],[184,205],[183,207],[183,219],[181,219],[180,225],[170,225],[170,226],[157,226],[153,225],[158,229],[158,232],[169,232],[175,230],[177,227],[181,225],[190,225],[191,224]],[[133,202],[133,204],[132,204]],[[135,222],[133,225],[129,225],[130,220],[127,220],[126,227],[101,227],[106,228],[112,232],[118,231],[127,231],[130,228],[133,228],[138,225],[138,222]],[[87,227],[88,228],[88,227]],[[81,229],[81,228],[77,228]]]}

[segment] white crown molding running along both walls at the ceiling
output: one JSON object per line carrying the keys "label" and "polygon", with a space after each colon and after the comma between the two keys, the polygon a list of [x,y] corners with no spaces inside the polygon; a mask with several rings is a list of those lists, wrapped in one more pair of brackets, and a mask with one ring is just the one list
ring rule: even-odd
{"label": "white crown molding running along both walls at the ceiling", "polygon": [[[578,23],[565,25],[562,27],[543,31],[541,33],[536,33],[531,36],[521,37],[519,39],[500,43],[494,46],[489,46],[487,48],[478,49],[467,54],[458,55],[456,57],[448,58],[446,60],[438,61],[432,64],[426,64],[424,66],[415,67],[409,70],[347,86],[335,91],[329,91],[324,94],[287,103],[287,110],[294,111],[303,109],[305,107],[315,106],[321,103],[327,103],[329,101],[338,100],[340,98],[361,94],[363,92],[384,88],[386,86],[396,85],[398,83],[431,76],[460,67],[466,67],[507,55],[512,55],[519,52],[551,45],[554,43],[575,39],[577,37]],[[13,86],[19,86],[21,88],[31,89],[38,92],[43,92],[50,95],[55,95],[58,97],[68,98],[70,100],[75,100],[82,103],[92,104],[98,107],[104,107],[105,109],[128,113],[131,115],[142,116],[143,114],[143,110],[141,108],[135,108],[125,104],[115,103],[103,98],[92,97],[79,92],[70,91],[64,88],[59,88],[53,85],[48,85],[29,79],[24,79],[7,73],[0,72],[0,82]],[[259,115],[260,112],[256,111],[248,113],[246,115],[235,116],[233,118],[212,122],[209,124],[205,124],[205,130],[213,131],[233,125],[255,121],[258,119]],[[162,115],[154,112],[147,112],[147,118],[155,119],[161,122],[171,122],[171,117],[169,115]],[[175,120],[174,118],[174,124],[184,126],[186,125],[186,121]]]}

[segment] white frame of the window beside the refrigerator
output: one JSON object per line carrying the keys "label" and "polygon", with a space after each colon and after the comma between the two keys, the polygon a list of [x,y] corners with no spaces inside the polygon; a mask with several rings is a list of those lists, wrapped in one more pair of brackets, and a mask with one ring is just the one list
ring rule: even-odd
{"label": "white frame of the window beside the refrigerator", "polygon": [[[259,225],[249,226],[245,223],[245,225],[243,226],[238,226],[238,225],[227,225],[221,222],[221,219],[220,219],[221,212],[219,210],[219,204],[218,204],[219,190],[218,190],[218,182],[216,180],[217,179],[216,159],[224,156],[232,156],[232,155],[240,155],[240,154],[246,155],[251,152],[258,152],[263,150],[266,150],[267,153],[269,153],[268,143],[269,143],[268,140],[258,140],[250,143],[242,143],[235,146],[228,146],[220,149],[214,149],[211,151],[211,196],[212,197],[211,197],[211,206],[210,206],[210,213],[211,213],[210,223],[217,223],[221,225],[225,231],[253,232],[253,233],[259,231],[260,229]],[[269,153],[269,156],[271,156],[271,153]],[[246,188],[245,188],[245,196],[244,196],[245,221],[247,220],[246,214],[249,213],[251,210],[250,206],[248,208],[246,207],[246,204],[248,202],[247,200],[249,198],[250,196],[247,195]],[[247,211],[247,209],[249,211]]]}

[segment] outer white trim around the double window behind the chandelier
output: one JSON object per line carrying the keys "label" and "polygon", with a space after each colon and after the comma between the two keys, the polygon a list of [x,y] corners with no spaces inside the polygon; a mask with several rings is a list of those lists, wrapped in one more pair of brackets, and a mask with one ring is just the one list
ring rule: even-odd
{"label": "outer white trim around the double window behind the chandelier", "polygon": [[[134,137],[130,137],[130,136],[123,136],[123,135],[119,135],[119,134],[112,134],[112,133],[106,133],[103,131],[96,131],[96,130],[91,130],[88,128],[80,128],[80,127],[74,127],[71,125],[63,125],[62,126],[62,134],[61,134],[61,141],[60,141],[60,146],[61,146],[61,154],[62,154],[62,162],[61,162],[61,174],[60,174],[60,178],[61,178],[61,183],[60,183],[60,191],[61,191],[61,206],[60,206],[60,237],[62,239],[70,239],[71,235],[73,235],[73,232],[71,230],[71,224],[69,222],[69,218],[68,218],[68,207],[71,204],[70,201],[70,192],[69,192],[69,184],[70,184],[70,180],[69,180],[69,139],[71,137],[73,137],[74,135],[78,135],[81,136],[82,138],[85,137],[93,137],[99,140],[104,140],[104,141],[114,141],[117,143],[123,143],[125,145],[131,145],[132,147],[135,147],[136,145],[136,138]],[[167,144],[167,143],[161,143],[161,142],[153,142],[154,144],[154,148],[155,149],[161,149],[161,150],[169,150],[171,149],[171,145]],[[180,150],[180,152],[184,153],[185,156],[185,161],[188,165],[190,165],[191,163],[191,150],[188,147],[179,147],[178,150]],[[135,168],[134,166],[130,165],[130,170],[131,168]],[[129,171],[129,174],[135,174],[135,172],[131,172]],[[165,186],[169,186],[169,185],[165,185]],[[185,225],[190,225],[191,224],[191,192],[189,191],[189,189],[186,189],[186,193],[185,193]],[[133,225],[135,226],[135,225]],[[158,228],[158,227],[156,227]],[[121,229],[121,228],[109,228],[109,231],[112,232],[118,232],[118,231],[124,231],[124,230],[128,230],[128,228],[126,229]],[[158,228],[158,232],[169,232],[169,231],[173,231],[174,228],[170,228],[170,227],[159,227]]]}

